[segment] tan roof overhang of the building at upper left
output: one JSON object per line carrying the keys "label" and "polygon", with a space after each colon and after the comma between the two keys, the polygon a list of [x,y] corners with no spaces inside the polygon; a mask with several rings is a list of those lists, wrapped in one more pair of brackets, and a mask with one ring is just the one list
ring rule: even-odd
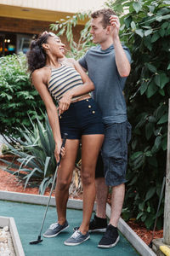
{"label": "tan roof overhang of the building at upper left", "polygon": [[[101,9],[105,0],[0,0],[0,17],[55,22],[78,12]],[[84,25],[87,20],[80,20]]]}

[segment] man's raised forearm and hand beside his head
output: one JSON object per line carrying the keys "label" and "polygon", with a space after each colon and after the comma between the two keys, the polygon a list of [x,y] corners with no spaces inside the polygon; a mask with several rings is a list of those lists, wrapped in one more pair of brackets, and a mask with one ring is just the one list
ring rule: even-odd
{"label": "man's raised forearm and hand beside his head", "polygon": [[113,45],[115,48],[116,67],[120,76],[127,77],[130,73],[130,63],[127,59],[127,55],[122,48],[122,44],[119,38],[120,22],[117,16],[112,15],[111,19],[111,36],[113,39]]}

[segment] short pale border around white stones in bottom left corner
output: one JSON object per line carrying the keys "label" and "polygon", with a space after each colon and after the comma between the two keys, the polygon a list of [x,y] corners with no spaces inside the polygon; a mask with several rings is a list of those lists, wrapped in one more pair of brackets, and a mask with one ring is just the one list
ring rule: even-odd
{"label": "short pale border around white stones in bottom left corner", "polygon": [[16,256],[25,256],[25,253],[20,241],[20,236],[19,236],[16,224],[14,222],[14,218],[0,216],[0,226],[1,227],[8,226],[10,235],[12,236],[14,253],[16,254]]}

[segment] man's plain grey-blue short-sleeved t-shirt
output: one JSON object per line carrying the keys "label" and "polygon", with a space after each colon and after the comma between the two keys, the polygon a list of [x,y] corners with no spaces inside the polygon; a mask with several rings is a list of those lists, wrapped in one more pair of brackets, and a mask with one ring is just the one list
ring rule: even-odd
{"label": "man's plain grey-blue short-sleeved t-shirt", "polygon": [[[126,46],[122,46],[131,61]],[[116,67],[115,49],[94,46],[79,60],[82,67],[88,70],[89,78],[94,82],[94,100],[97,102],[105,124],[122,123],[127,120],[127,107],[122,93],[126,78],[122,78]]]}

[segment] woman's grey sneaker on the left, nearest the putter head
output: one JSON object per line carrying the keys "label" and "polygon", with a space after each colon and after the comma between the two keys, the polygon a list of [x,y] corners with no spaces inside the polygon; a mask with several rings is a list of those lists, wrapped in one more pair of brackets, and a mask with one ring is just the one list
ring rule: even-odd
{"label": "woman's grey sneaker on the left, nearest the putter head", "polygon": [[51,224],[48,228],[48,230],[45,231],[45,233],[43,234],[44,237],[54,237],[54,236],[58,236],[60,232],[68,229],[69,224],[68,222],[65,220],[65,224],[60,225],[58,222]]}

